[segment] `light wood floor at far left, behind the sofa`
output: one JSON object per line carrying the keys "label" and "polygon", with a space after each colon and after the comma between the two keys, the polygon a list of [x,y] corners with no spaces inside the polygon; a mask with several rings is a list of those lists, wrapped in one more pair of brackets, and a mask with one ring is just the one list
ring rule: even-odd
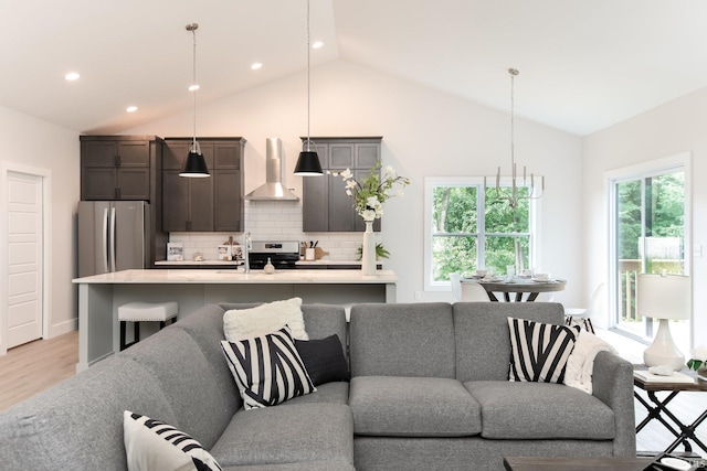
{"label": "light wood floor at far left, behind the sofa", "polygon": [[78,331],[35,340],[0,356],[0,410],[76,374]]}

